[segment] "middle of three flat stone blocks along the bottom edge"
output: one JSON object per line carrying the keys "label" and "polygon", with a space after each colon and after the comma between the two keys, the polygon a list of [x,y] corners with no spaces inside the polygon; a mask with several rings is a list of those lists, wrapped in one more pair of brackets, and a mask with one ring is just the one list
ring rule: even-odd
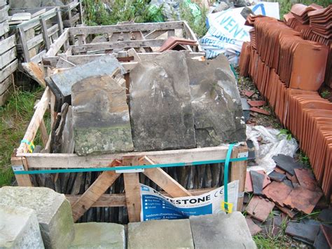
{"label": "middle of three flat stone blocks along the bottom edge", "polygon": [[129,223],[127,236],[128,249],[194,248],[188,219]]}

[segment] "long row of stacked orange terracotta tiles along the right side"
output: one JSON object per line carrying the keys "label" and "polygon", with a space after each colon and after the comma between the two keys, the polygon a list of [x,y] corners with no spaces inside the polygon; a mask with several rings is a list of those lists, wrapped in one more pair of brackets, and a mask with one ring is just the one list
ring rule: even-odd
{"label": "long row of stacked orange terracotta tiles along the right side", "polygon": [[300,32],[273,18],[251,16],[247,22],[254,25],[255,39],[242,46],[240,73],[251,76],[279,121],[299,140],[329,198],[332,103],[317,93],[324,81],[328,47],[303,40]]}

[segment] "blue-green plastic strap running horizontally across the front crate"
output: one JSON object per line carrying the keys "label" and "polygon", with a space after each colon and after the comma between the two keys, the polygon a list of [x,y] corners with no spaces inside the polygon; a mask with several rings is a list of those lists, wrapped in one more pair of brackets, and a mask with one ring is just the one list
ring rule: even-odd
{"label": "blue-green plastic strap running horizontally across the front crate", "polygon": [[[233,144],[234,145],[234,144]],[[233,146],[232,146],[233,147]],[[226,157],[227,159],[227,157]],[[247,157],[241,157],[238,159],[229,159],[229,162],[235,161],[247,161]],[[152,165],[139,165],[139,166],[118,166],[112,168],[66,168],[57,170],[25,170],[25,171],[15,171],[15,175],[36,175],[36,174],[55,174],[55,173],[80,173],[80,172],[99,172],[99,171],[114,171],[114,170],[136,170],[144,168],[166,168],[166,167],[181,167],[181,166],[191,166],[200,164],[211,164],[211,163],[226,163],[225,159],[221,160],[211,160],[211,161],[195,161],[192,163],[161,163]]]}

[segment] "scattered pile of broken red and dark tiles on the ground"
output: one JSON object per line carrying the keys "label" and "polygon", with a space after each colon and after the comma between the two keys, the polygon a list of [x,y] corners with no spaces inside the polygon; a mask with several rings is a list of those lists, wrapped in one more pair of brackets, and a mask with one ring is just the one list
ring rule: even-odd
{"label": "scattered pile of broken red and dark tiles on the ground", "polygon": [[[332,209],[324,200],[312,172],[290,156],[273,156],[277,165],[266,175],[263,170],[247,171],[243,207],[251,235],[263,233],[278,236],[282,224],[286,234],[310,245],[332,246]],[[314,208],[325,208],[319,220],[302,219],[300,214],[310,215]],[[297,216],[296,216],[297,215]],[[330,234],[331,235],[331,234]]]}

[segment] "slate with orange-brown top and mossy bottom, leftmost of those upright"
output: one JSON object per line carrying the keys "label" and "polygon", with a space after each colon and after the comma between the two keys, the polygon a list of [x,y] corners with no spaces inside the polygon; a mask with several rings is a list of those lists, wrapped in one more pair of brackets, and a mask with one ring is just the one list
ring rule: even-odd
{"label": "slate with orange-brown top and mossy bottom, leftmost of those upright", "polygon": [[75,83],[71,90],[76,154],[134,149],[125,86],[110,76],[95,76]]}

